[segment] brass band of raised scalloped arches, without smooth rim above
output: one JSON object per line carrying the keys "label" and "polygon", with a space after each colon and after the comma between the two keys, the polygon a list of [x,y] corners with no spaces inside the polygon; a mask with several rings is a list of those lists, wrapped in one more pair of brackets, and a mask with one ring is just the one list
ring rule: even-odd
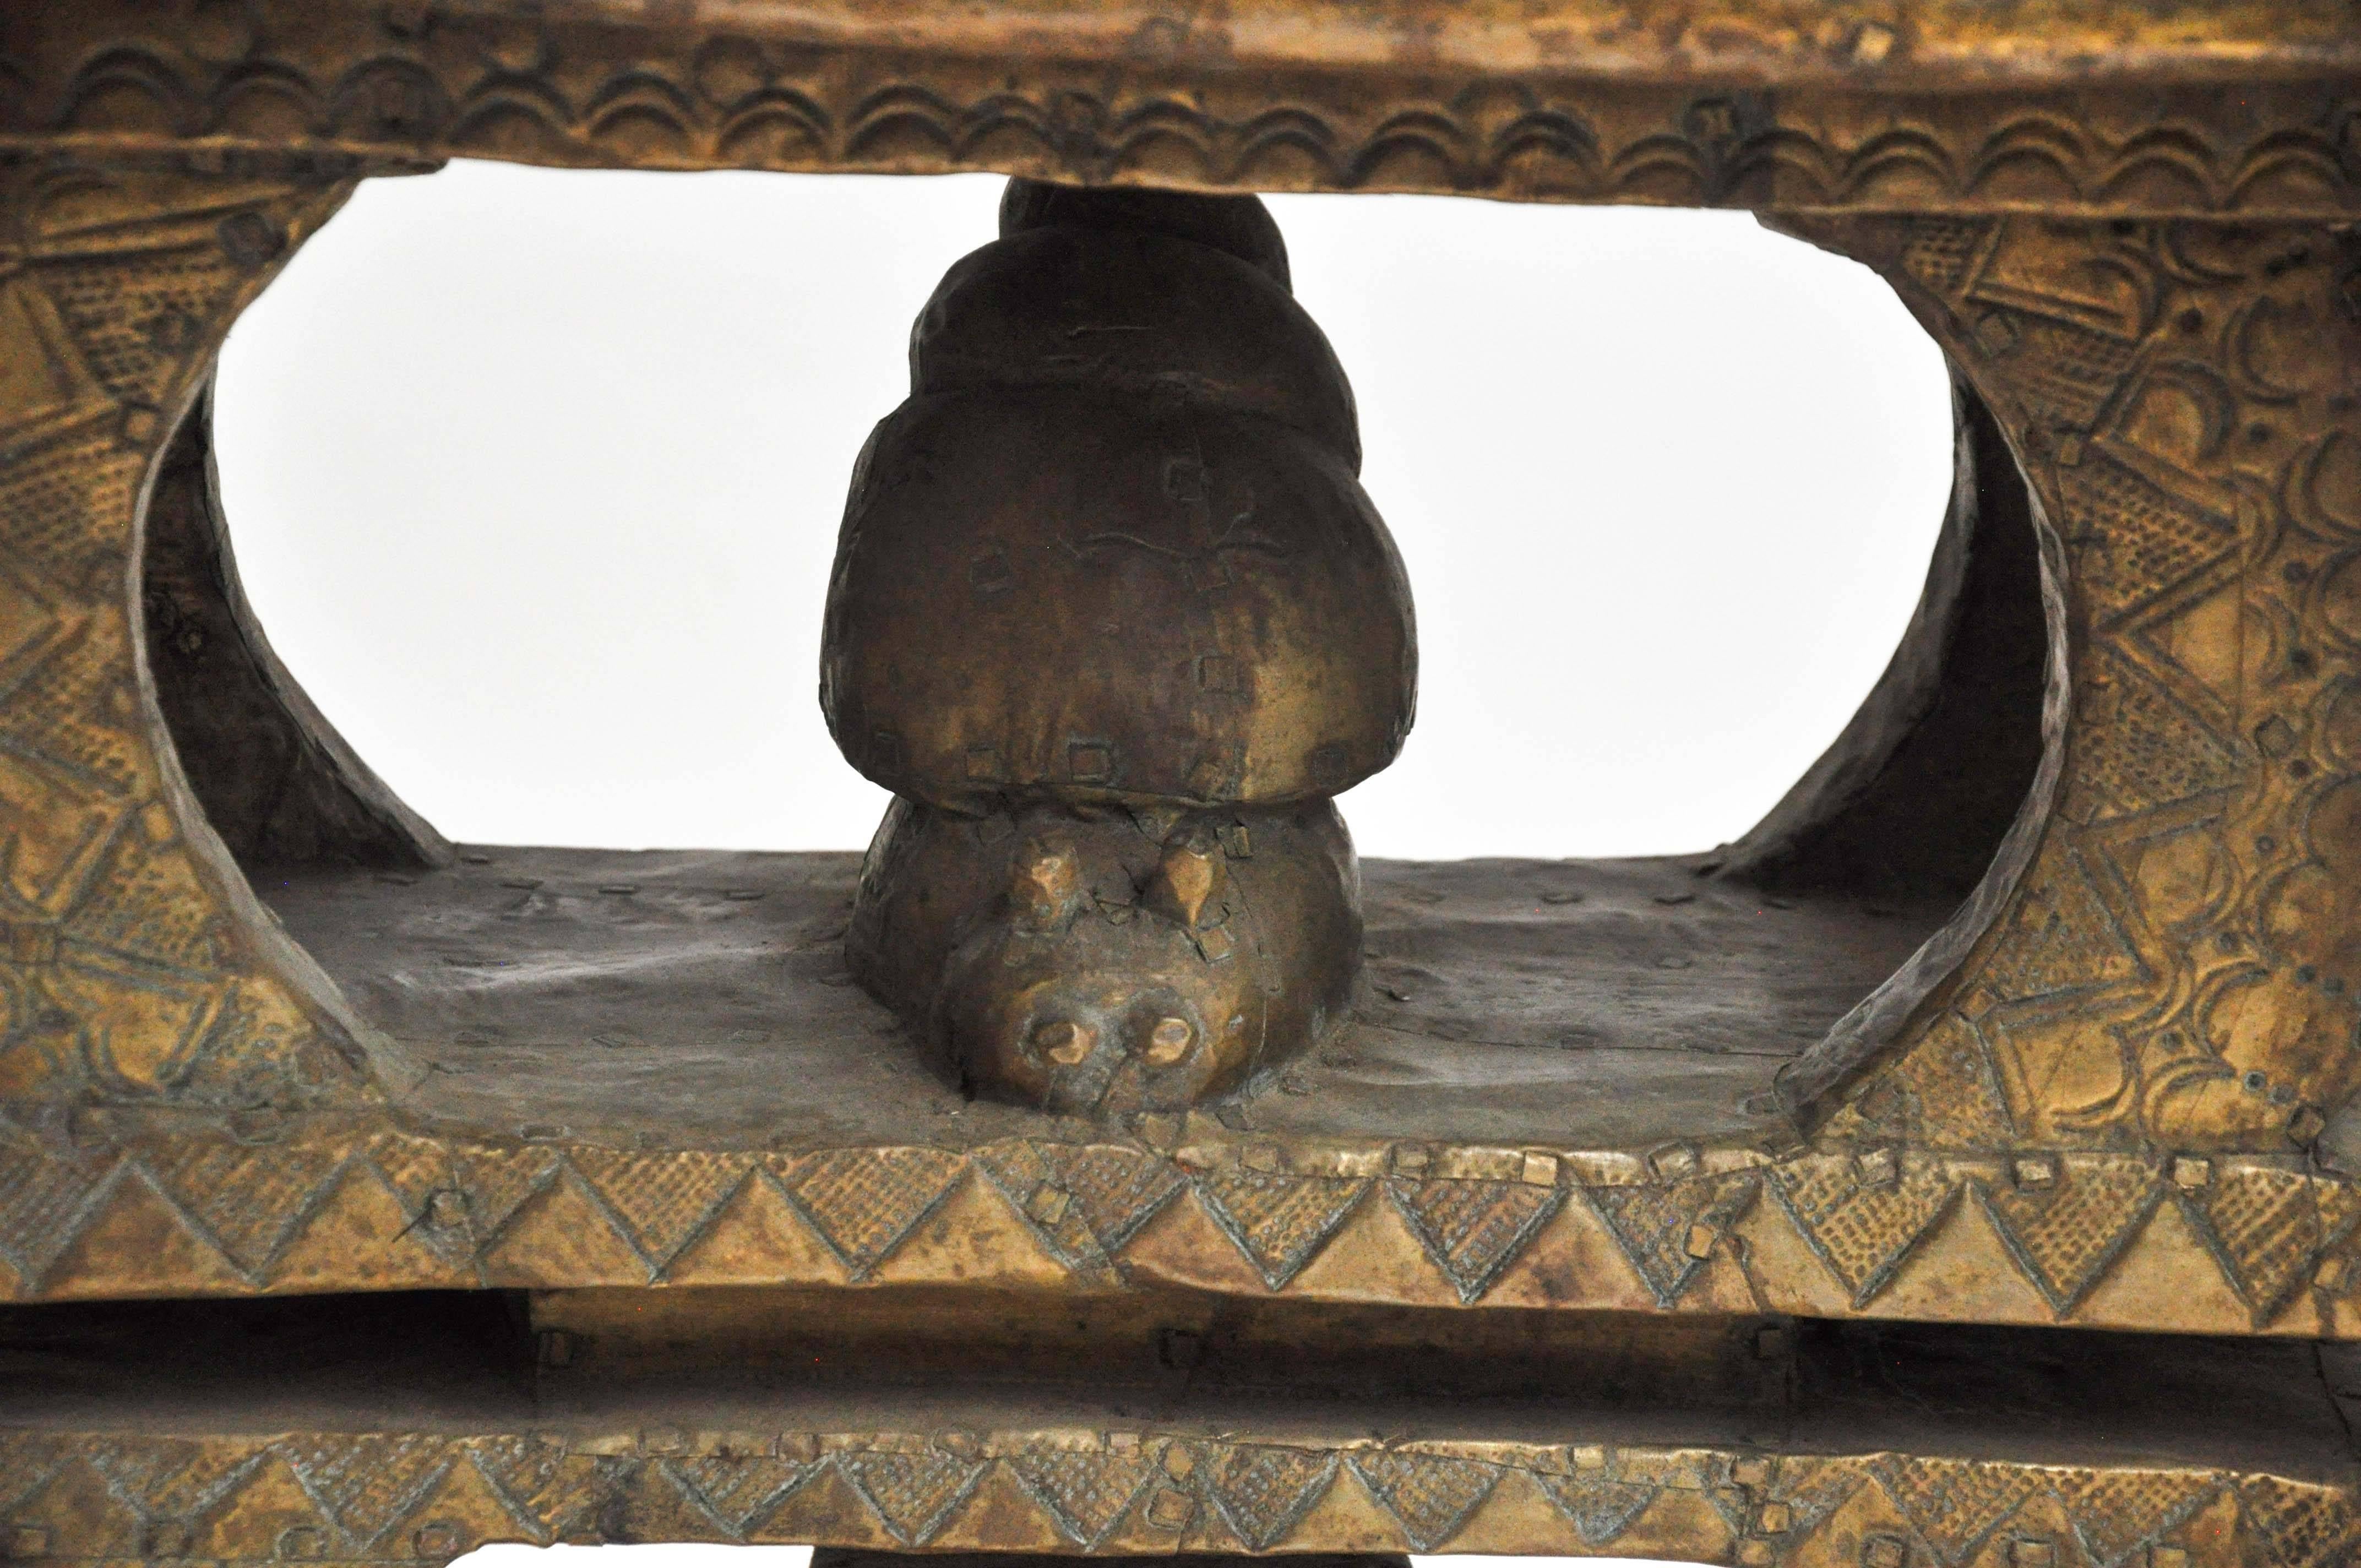
{"label": "brass band of raised scalloped arches, without smooth rim above", "polygon": [[[217,7],[231,9],[231,7]],[[2349,78],[1898,92],[1398,66],[980,61],[411,0],[255,0],[243,26],[42,7],[0,139],[623,168],[996,168],[1190,187],[2052,213],[2349,213]]]}

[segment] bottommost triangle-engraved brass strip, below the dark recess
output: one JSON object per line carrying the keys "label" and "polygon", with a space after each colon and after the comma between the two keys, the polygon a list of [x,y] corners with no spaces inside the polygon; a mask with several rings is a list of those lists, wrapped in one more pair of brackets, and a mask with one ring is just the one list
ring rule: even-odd
{"label": "bottommost triangle-engraved brass strip, below the dark recess", "polygon": [[1093,1433],[0,1431],[17,1556],[442,1563],[484,1542],[888,1551],[1509,1551],[1804,1563],[2340,1568],[2333,1488],[1896,1452]]}

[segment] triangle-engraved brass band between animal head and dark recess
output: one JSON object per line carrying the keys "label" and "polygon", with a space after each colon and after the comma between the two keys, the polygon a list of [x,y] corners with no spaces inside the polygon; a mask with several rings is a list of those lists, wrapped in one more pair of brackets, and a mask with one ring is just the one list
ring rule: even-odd
{"label": "triangle-engraved brass band between animal head and dark recess", "polygon": [[[1242,1152],[1251,1150],[1249,1141]],[[1433,1150],[1421,1145],[1421,1152]],[[1206,1150],[1199,1145],[1192,1157]],[[1384,1155],[1355,1155],[1350,1164],[1381,1167]],[[970,1176],[977,1197],[1011,1223],[987,1233],[928,1223]],[[1388,1188],[1388,1223],[1348,1226],[1376,1185]],[[1764,1185],[1768,1197],[1757,1204]],[[1192,1207],[1216,1223],[1138,1219],[1171,1214],[1183,1188],[1197,1193]],[[1454,1259],[1419,1228],[1445,1223],[1433,1219],[1440,1188],[1452,1188],[1447,1216],[1473,1216],[1471,1226],[1490,1223],[1487,1216],[1516,1223],[1499,1223],[1483,1252],[1461,1247]],[[1983,1216],[1974,1223],[1960,1219],[1967,1190],[1976,1190]],[[1114,1197],[1093,1209],[1091,1195]],[[1426,1219],[1395,1226],[1405,1195],[1426,1204]],[[2167,1200],[2179,1219],[2146,1223]],[[1268,1268],[1221,1223],[1216,1204],[1237,1204],[1232,1223],[1244,1216],[1258,1226],[1247,1235],[1268,1247]],[[897,1278],[963,1285],[1032,1287],[1041,1266],[1096,1285],[1119,1285],[1143,1268],[1150,1280],[1228,1282],[1240,1278],[1235,1259],[1244,1254],[1256,1259],[1261,1285],[1247,1285],[1256,1294],[1426,1304],[1443,1292],[1445,1301],[1485,1308],[1530,1304],[1528,1287],[1502,1289],[1502,1282],[1561,1244],[1549,1237],[1568,1228],[1546,1221],[1565,1204],[1580,1207],[1572,1230],[1594,1237],[1587,1244],[1596,1259],[1551,1285],[1551,1301],[1568,1308],[1629,1306],[1639,1292],[1662,1308],[1728,1311],[1726,1294],[1690,1289],[1709,1261],[1726,1259],[1773,1311],[2361,1334],[2354,1311],[2361,1268],[2347,1275],[2330,1266],[2361,1223],[2361,1188],[2285,1162],[2158,1164],[2141,1152],[1995,1159],[1974,1150],[1868,1145],[1801,1148],[1785,1159],[1757,1155],[1728,1174],[1667,1167],[1657,1181],[1624,1174],[1542,1188],[1513,1176],[1412,1183],[1202,1169],[1140,1145],[1036,1138],[973,1152],[623,1152],[442,1143],[382,1124],[357,1133],[345,1122],[293,1122],[246,1141],[191,1129],[175,1138],[78,1143],[64,1117],[42,1126],[0,1119],[0,1299],[163,1287],[253,1294],[463,1282],[817,1285],[869,1278],[888,1259]],[[807,1244],[789,1252],[744,1240],[701,1244],[751,1211],[772,1214]],[[1105,1247],[1093,1223],[1107,1226]],[[90,1252],[92,1237],[125,1230],[144,1237],[139,1252]],[[1740,1244],[1740,1233],[1790,1233],[1794,1242],[1766,1249]],[[1322,1259],[1320,1270],[1306,1273],[1313,1256]],[[2134,1256],[2146,1268],[2222,1275],[2231,1294],[2106,1299],[2101,1315],[2092,1315],[2094,1287]],[[1981,1270],[1976,1278],[2023,1273],[2040,1296],[2012,1287],[1894,1301],[1896,1285],[1934,1282],[1948,1268]]]}

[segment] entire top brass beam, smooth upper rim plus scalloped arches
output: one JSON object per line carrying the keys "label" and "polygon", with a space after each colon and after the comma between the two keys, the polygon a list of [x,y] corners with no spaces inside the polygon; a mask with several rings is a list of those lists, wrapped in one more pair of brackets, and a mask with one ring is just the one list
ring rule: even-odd
{"label": "entire top brass beam, smooth upper rim plus scalloped arches", "polygon": [[[78,0],[0,139],[1740,208],[2352,213],[2337,0]],[[2222,83],[2238,83],[2234,92]]]}

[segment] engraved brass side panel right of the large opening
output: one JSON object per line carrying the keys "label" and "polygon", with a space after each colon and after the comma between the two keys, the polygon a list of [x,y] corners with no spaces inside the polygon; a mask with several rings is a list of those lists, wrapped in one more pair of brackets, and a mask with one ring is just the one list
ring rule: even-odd
{"label": "engraved brass side panel right of the large opening", "polygon": [[[2052,1152],[2297,1155],[2361,1089],[2352,241],[2304,222],[1780,222],[1912,302],[2007,432],[2064,571],[2056,810],[1938,1001]],[[2035,1230],[2012,1230],[2028,1256]],[[2071,1296],[2080,1268],[2052,1263],[2028,1270]],[[2288,1280],[2224,1266],[2255,1311],[2285,1299]]]}

